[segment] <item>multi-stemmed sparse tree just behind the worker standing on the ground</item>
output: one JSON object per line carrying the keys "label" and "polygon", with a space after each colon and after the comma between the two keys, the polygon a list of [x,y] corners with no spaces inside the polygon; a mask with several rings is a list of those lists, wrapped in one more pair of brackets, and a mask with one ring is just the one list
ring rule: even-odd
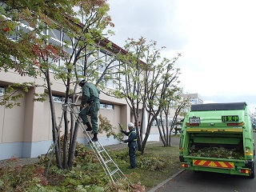
{"label": "multi-stemmed sparse tree just behind the worker standing on the ground", "polygon": [[[138,150],[143,154],[152,123],[165,106],[168,90],[178,91],[179,69],[174,68],[174,62],[180,54],[172,60],[164,58],[159,62],[162,49],[156,49],[156,42],[146,44],[145,38],[139,38],[138,41],[129,38],[125,50],[128,54],[119,55],[119,58],[126,63],[123,69],[126,85],[120,85],[121,90],[114,94],[126,98],[133,112]],[[138,127],[140,119],[141,126]]]}

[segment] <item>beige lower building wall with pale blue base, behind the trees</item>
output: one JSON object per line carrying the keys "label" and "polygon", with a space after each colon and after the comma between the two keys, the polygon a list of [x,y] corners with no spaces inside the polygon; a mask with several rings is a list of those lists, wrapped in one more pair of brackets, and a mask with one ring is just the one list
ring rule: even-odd
{"label": "beige lower building wall with pale blue base, behind the trees", "polygon": [[[42,78],[21,77],[14,71],[10,73],[0,72],[0,86],[8,86],[13,82],[43,84]],[[54,80],[52,83],[53,93],[64,96],[65,86],[63,83]],[[19,101],[21,106],[14,106],[12,109],[0,106],[0,160],[11,157],[34,158],[40,154],[46,154],[49,150],[53,143],[50,102],[49,100],[46,102],[33,101],[34,93],[42,94],[44,92],[46,90],[42,86],[30,87],[29,91],[25,93],[25,97]],[[130,107],[127,106],[125,99],[113,98],[101,93],[100,100],[103,103],[114,105],[114,109],[101,108],[99,111],[99,114],[108,118],[114,127],[119,129],[119,123],[126,126],[130,122]],[[78,100],[77,104],[79,103]],[[62,102],[54,102],[54,107],[59,123],[62,117]],[[63,133],[63,123],[61,130]],[[106,134],[99,134],[98,138],[103,146],[119,143],[113,137],[106,138]],[[78,132],[78,142],[87,143],[82,130]]]}

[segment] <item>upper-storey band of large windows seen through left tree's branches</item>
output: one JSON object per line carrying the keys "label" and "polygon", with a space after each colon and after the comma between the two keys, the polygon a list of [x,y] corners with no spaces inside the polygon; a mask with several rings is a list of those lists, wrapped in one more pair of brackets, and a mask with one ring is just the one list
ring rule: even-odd
{"label": "upper-storey band of large windows seen through left tree's branches", "polygon": [[[18,34],[25,34],[31,30],[34,30],[26,21],[21,20],[21,23],[22,24],[17,27]],[[62,67],[64,70],[66,69],[65,62],[74,62],[74,57],[76,55],[74,51],[76,50],[74,50],[73,46],[71,45],[74,45],[77,42],[75,38],[70,38],[69,35],[66,34],[62,29],[43,30],[42,34],[40,35],[49,35],[50,38],[48,39],[48,42],[52,45],[62,47],[67,56],[66,61],[62,59],[49,58],[48,62],[53,64],[55,67]],[[16,37],[13,35],[10,38],[17,40],[18,35]],[[125,75],[122,74],[122,71],[124,71],[123,67],[121,66],[122,63],[115,59],[114,54],[108,52],[107,50],[100,49],[99,47],[95,48],[94,53],[86,53],[84,51],[80,53],[77,60],[77,70],[79,75],[85,74],[85,54],[88,54],[86,75],[96,72],[98,73],[98,78],[100,78],[101,75],[105,73],[102,81],[107,88],[119,90],[120,86],[126,87]]]}

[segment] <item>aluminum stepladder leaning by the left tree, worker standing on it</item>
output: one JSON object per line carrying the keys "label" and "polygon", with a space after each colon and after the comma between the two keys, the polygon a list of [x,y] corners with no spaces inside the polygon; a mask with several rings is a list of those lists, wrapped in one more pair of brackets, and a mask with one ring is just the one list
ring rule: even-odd
{"label": "aluminum stepladder leaning by the left tree, worker standing on it", "polygon": [[110,155],[106,152],[105,148],[102,146],[101,142],[92,142],[90,133],[86,131],[86,127],[82,124],[82,119],[78,116],[80,113],[80,106],[74,103],[64,103],[62,104],[62,110],[67,110],[70,114],[73,114],[74,120],[78,122],[78,126],[82,133],[84,134],[86,140],[90,144],[94,154],[96,154],[99,162],[103,167],[108,178],[112,182],[118,182],[118,179],[126,179],[126,175],[122,173],[118,165],[110,158]]}

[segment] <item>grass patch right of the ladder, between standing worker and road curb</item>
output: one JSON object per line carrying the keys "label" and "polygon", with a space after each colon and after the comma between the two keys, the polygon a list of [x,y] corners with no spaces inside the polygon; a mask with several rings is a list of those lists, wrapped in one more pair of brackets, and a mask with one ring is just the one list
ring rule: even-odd
{"label": "grass patch right of the ladder, between standing worker and road curb", "polygon": [[[124,174],[134,174],[134,180],[131,182],[141,182],[142,186],[146,186],[146,190],[157,186],[182,169],[178,159],[178,146],[147,145],[143,155],[137,152],[138,167],[133,170],[127,169],[127,166],[130,165],[127,151],[128,147],[123,150],[110,151],[110,155],[126,153],[126,161],[116,160],[120,170]],[[130,178],[130,180],[132,179]]]}

